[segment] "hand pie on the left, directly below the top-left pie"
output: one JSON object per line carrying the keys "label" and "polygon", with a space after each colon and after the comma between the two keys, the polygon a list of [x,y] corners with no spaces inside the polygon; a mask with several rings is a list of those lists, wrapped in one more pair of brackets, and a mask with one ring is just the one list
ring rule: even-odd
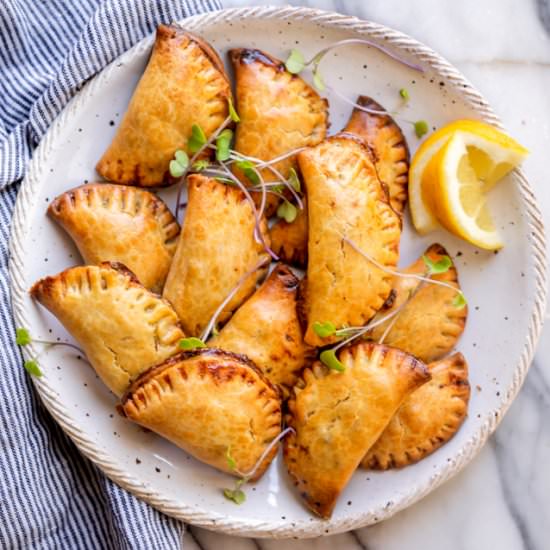
{"label": "hand pie on the left, directly below the top-left pie", "polygon": [[123,263],[143,286],[162,292],[179,225],[156,195],[91,183],[57,197],[48,214],[71,236],[85,263]]}

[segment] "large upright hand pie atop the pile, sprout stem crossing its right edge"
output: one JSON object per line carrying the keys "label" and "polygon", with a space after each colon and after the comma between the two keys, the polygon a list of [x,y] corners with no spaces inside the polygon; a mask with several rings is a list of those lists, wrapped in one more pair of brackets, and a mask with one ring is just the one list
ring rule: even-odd
{"label": "large upright hand pie atop the pile, sprout stem crossing its right edge", "polygon": [[308,197],[308,266],[303,311],[306,343],[331,338],[315,322],[364,325],[384,304],[392,277],[355,251],[347,237],[388,268],[398,260],[401,220],[388,203],[366,146],[336,135],[298,155]]}

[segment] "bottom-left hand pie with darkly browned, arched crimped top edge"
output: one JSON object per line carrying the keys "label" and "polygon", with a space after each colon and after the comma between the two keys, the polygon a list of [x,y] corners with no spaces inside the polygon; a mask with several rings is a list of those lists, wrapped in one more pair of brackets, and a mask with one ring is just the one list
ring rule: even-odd
{"label": "bottom-left hand pie with darkly browned, arched crimped top edge", "polygon": [[[124,414],[189,454],[233,475],[247,473],[281,431],[277,390],[245,357],[200,349],[168,359],[138,378]],[[230,468],[227,455],[236,470]],[[275,446],[252,476],[262,476]]]}

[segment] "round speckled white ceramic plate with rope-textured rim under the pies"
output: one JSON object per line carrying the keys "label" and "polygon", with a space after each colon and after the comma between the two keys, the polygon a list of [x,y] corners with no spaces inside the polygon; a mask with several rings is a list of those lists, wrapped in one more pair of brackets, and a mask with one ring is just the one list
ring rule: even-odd
{"label": "round speckled white ceramic plate with rope-textured rim under the pies", "polygon": [[[325,79],[349,97],[371,95],[388,109],[411,96],[402,114],[438,127],[461,117],[498,124],[481,96],[443,59],[418,42],[380,25],[304,8],[226,10],[181,23],[203,35],[222,55],[230,47],[265,49],[284,58],[297,47],[306,56],[349,37],[367,37],[409,60],[416,73],[373,48],[352,46],[327,56]],[[56,119],[38,148],[18,197],[12,235],[13,306],[18,326],[41,337],[70,336],[26,291],[40,277],[80,262],[75,247],[52,221],[53,197],[94,181],[94,165],[113,136],[146,64],[153,37],[146,38],[89,82]],[[330,97],[332,130],[350,107]],[[418,145],[404,126],[411,152]],[[161,195],[170,205],[173,191]],[[491,197],[506,247],[498,255],[475,250],[447,233],[421,238],[406,221],[402,265],[438,241],[455,257],[470,304],[458,349],[471,371],[470,413],[456,437],[419,464],[383,473],[358,470],[330,521],[313,517],[288,481],[280,457],[263,479],[247,488],[236,506],[221,493],[231,479],[202,465],[170,443],[115,414],[115,397],[92,369],[65,349],[40,357],[44,376],[35,379],[46,406],[74,442],[111,479],[163,512],[191,523],[248,536],[309,537],[336,533],[388,518],[462,468],[496,428],[530,363],[545,305],[545,259],[540,214],[529,185],[516,172]],[[34,355],[38,349],[32,349]]]}

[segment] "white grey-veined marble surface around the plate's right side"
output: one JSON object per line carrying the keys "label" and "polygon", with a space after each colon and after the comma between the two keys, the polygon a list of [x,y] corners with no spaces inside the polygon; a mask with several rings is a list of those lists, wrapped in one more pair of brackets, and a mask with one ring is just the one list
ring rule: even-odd
{"label": "white grey-veined marble surface around the plate's right side", "polygon": [[[264,5],[222,0],[226,7]],[[532,154],[525,170],[550,227],[548,0],[311,0],[402,30],[459,67]],[[546,15],[550,27],[550,8]],[[191,528],[186,549],[546,550],[550,548],[550,325],[527,381],[496,434],[461,474],[394,518],[306,541],[252,540]]]}

